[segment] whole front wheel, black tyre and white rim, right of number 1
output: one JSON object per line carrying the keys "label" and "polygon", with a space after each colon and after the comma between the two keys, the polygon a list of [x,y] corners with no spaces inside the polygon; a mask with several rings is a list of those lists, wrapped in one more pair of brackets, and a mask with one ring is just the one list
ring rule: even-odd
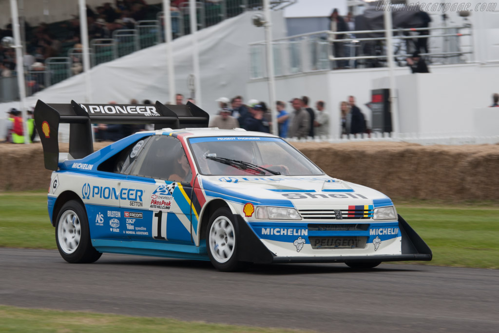
{"label": "whole front wheel, black tyre and white rim, right of number 1", "polygon": [[237,224],[227,207],[215,211],[206,230],[206,248],[212,265],[222,272],[239,269],[237,253]]}

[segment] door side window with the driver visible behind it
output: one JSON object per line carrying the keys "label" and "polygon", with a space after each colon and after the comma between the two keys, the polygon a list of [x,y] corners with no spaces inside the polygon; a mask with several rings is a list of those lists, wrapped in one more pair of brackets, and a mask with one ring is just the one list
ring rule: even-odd
{"label": "door side window with the driver visible behind it", "polygon": [[191,166],[179,139],[167,135],[152,136],[137,158],[131,175],[177,182],[190,182]]}

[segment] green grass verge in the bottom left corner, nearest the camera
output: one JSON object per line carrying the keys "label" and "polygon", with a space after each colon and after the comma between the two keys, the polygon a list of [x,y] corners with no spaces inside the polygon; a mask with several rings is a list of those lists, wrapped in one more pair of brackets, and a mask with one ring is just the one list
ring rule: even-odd
{"label": "green grass verge in the bottom left corner, nearest the camera", "polygon": [[0,332],[304,332],[283,329],[263,329],[175,319],[125,317],[87,312],[33,310],[0,306]]}

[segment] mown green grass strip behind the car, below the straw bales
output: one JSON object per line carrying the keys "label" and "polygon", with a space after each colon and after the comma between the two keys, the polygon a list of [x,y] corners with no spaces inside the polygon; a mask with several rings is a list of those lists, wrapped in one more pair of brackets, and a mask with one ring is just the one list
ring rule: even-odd
{"label": "mown green grass strip behind the car, below the straw bales", "polygon": [[[499,207],[494,203],[395,201],[433,251],[418,264],[499,269]],[[0,247],[55,249],[45,192],[0,193]]]}

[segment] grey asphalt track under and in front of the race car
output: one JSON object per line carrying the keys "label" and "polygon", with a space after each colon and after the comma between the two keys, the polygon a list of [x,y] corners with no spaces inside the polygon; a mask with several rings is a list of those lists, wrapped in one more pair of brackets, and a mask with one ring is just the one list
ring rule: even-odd
{"label": "grey asphalt track under and in front of the race car", "polygon": [[382,264],[253,266],[0,249],[0,304],[319,332],[498,332],[499,270]]}

